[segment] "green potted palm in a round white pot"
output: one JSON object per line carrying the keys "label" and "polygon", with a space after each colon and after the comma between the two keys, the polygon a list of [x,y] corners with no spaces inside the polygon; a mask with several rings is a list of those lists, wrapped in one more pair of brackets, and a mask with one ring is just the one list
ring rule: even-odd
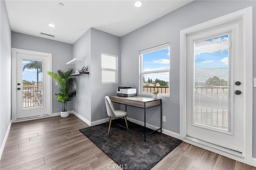
{"label": "green potted palm in a round white pot", "polygon": [[71,101],[76,96],[76,89],[74,89],[74,80],[76,78],[69,75],[73,72],[73,69],[63,72],[58,70],[55,72],[48,71],[47,74],[52,76],[59,84],[59,93],[55,93],[57,100],[62,103],[62,111],[60,116],[62,118],[68,117],[67,102]]}

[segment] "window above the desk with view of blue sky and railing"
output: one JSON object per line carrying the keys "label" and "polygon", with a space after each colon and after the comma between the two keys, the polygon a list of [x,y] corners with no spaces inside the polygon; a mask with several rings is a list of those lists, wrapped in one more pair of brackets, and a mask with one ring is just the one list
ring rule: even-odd
{"label": "window above the desk with view of blue sky and railing", "polygon": [[169,96],[169,43],[140,51],[140,93]]}

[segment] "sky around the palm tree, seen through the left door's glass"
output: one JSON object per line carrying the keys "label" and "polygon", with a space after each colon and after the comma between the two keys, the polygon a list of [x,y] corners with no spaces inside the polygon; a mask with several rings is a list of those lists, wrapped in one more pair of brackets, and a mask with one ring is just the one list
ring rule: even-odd
{"label": "sky around the palm tree, seen through the left door's glass", "polygon": [[[31,60],[25,60],[25,59],[22,59],[22,69],[24,67],[24,65],[26,63],[29,63]],[[36,82],[36,69],[25,69],[23,72],[22,72],[22,80],[27,80],[27,81],[34,81]],[[42,73],[39,73],[39,77],[38,77],[38,80],[39,81],[42,81]]]}

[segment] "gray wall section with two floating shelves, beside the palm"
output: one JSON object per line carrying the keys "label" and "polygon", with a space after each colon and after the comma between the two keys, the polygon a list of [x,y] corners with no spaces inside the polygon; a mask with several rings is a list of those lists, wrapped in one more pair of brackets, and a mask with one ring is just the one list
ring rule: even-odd
{"label": "gray wall section with two floating shelves, beside the palm", "polygon": [[[88,29],[74,44],[73,58],[84,59],[84,63],[74,65],[74,70],[88,66],[90,74],[76,77],[76,98],[73,110],[91,121],[91,29]],[[89,76],[89,78],[88,78]]]}

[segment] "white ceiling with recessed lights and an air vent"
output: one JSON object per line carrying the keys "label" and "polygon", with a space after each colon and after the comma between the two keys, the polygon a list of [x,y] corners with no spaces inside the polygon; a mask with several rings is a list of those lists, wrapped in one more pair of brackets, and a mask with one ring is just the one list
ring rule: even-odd
{"label": "white ceiling with recessed lights and an air vent", "polygon": [[135,0],[6,0],[6,6],[12,31],[73,44],[90,27],[121,37],[192,2],[142,1],[139,8]]}

